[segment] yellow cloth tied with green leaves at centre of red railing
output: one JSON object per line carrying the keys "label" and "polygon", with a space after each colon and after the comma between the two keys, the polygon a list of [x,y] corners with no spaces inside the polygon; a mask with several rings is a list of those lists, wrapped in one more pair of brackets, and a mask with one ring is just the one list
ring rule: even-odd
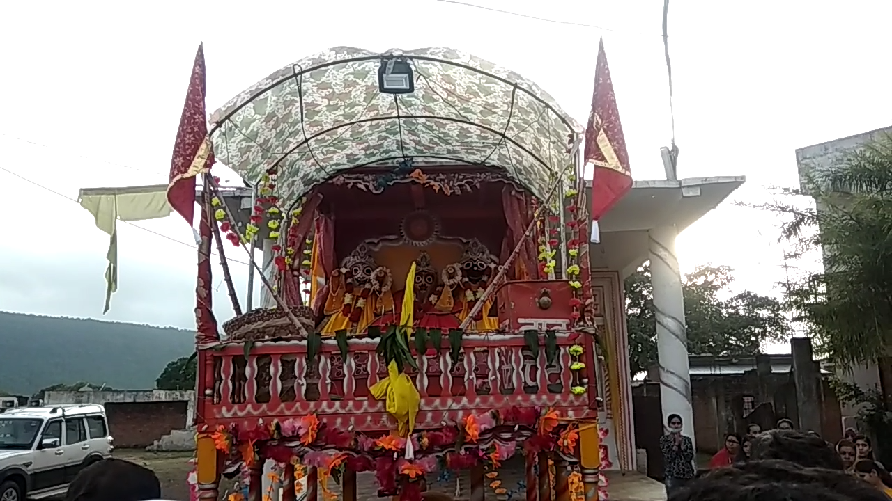
{"label": "yellow cloth tied with green leaves at centre of red railing", "polygon": [[[415,317],[415,263],[409,268],[409,274],[406,275],[406,290],[402,297],[402,313],[400,318],[400,328],[406,330],[407,343],[412,333],[412,323]],[[396,333],[400,336],[402,333]],[[387,413],[396,419],[397,432],[401,437],[406,437],[406,457],[411,459],[412,451],[412,431],[415,430],[415,418],[418,415],[418,407],[421,404],[421,396],[407,374],[403,373],[401,367],[396,365],[395,361],[391,361],[387,365],[387,377],[376,382],[369,391],[372,397],[380,400],[385,399],[384,406]]]}

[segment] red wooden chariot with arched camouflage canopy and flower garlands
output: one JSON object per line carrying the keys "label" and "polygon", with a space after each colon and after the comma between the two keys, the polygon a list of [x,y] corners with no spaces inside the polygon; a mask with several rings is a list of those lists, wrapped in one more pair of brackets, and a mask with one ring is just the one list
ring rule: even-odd
{"label": "red wooden chariot with arched camouflage canopy and flower garlands", "polygon": [[[590,122],[585,158],[609,167]],[[260,501],[274,460],[285,501],[301,477],[308,501],[333,483],[355,501],[358,472],[412,501],[443,470],[508,499],[500,467],[520,455],[527,500],[604,497],[582,140],[533,82],[444,48],[330,49],[209,126],[200,48],[167,189],[190,223],[196,193],[201,209],[197,496],[241,471]],[[263,304],[243,311],[221,260],[221,334],[211,254],[238,247],[263,249]]]}

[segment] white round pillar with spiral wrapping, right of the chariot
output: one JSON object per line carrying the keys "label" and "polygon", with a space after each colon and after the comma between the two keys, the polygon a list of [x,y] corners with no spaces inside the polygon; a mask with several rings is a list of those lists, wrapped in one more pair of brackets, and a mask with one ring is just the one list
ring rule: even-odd
{"label": "white round pillar with spiral wrapping, right of the chariot", "polygon": [[674,226],[660,226],[648,232],[650,280],[654,287],[654,315],[657,317],[657,355],[660,363],[663,421],[668,415],[681,415],[683,432],[693,440],[694,411],[690,401],[688,333],[684,323],[681,271],[678,258],[675,257],[676,236],[678,232]]}

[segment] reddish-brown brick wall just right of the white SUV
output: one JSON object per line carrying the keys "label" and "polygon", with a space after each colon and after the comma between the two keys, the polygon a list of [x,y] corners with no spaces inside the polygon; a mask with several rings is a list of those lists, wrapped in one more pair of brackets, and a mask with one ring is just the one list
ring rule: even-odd
{"label": "reddish-brown brick wall just right of the white SUV", "polygon": [[186,424],[188,402],[108,402],[105,414],[116,448],[145,448]]}

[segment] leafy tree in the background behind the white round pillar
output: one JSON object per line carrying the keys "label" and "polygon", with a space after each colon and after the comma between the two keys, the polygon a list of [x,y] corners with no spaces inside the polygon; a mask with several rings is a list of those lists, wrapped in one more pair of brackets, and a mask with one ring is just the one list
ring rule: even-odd
{"label": "leafy tree in the background behind the white round pillar", "polygon": [[[733,282],[732,271],[725,266],[701,266],[684,277],[691,354],[752,357],[765,341],[789,337],[789,323],[779,300],[750,291],[720,299],[720,292]],[[647,263],[625,279],[625,298],[631,369],[636,374],[657,364],[657,322]]]}

